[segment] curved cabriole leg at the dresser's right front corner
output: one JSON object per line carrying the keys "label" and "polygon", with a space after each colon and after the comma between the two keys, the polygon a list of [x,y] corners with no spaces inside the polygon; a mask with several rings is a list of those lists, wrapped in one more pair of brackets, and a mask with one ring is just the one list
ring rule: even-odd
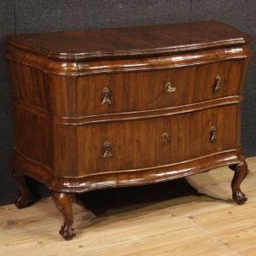
{"label": "curved cabriole leg at the dresser's right front corner", "polygon": [[241,191],[241,182],[247,177],[248,167],[247,162],[243,160],[240,164],[230,166],[230,169],[235,171],[232,179],[232,198],[238,204],[242,205],[247,201],[246,195]]}

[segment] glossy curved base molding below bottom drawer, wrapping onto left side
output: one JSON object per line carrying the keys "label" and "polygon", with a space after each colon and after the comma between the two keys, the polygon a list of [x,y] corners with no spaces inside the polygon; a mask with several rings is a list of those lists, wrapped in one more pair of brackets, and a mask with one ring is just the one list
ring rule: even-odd
{"label": "glossy curved base molding below bottom drawer, wrapping onto left side", "polygon": [[244,155],[240,149],[230,149],[166,166],[119,172],[102,172],[84,177],[61,177],[55,176],[49,168],[30,160],[15,150],[13,165],[20,172],[44,183],[50,190],[67,193],[83,193],[96,189],[165,182],[199,172],[207,172],[220,166],[237,164],[242,160],[244,160]]}

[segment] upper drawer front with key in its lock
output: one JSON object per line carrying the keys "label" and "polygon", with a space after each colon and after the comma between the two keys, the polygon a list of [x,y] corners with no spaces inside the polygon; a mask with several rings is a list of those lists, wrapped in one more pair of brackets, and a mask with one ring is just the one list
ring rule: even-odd
{"label": "upper drawer front with key in its lock", "polygon": [[243,61],[81,76],[79,116],[169,108],[238,94]]}

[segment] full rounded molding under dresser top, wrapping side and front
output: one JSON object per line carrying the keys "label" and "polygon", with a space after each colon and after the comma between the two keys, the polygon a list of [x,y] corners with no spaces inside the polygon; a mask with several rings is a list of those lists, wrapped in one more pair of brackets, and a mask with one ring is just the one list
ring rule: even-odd
{"label": "full rounded molding under dresser top, wrapping side and front", "polygon": [[36,55],[10,45],[6,52],[9,61],[17,61],[29,67],[35,67],[44,73],[58,75],[83,76],[97,73],[125,73],[190,67],[201,64],[246,59],[247,54],[241,46],[224,49],[210,49],[194,53],[144,57],[140,59],[113,59],[102,61],[55,61],[49,57]]}

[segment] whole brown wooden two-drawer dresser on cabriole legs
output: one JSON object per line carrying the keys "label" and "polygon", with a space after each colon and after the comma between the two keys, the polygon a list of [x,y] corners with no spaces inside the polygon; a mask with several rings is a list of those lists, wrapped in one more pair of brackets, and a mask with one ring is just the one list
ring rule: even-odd
{"label": "whole brown wooden two-drawer dresser on cabriole legs", "polygon": [[9,37],[16,206],[33,202],[24,175],[44,183],[72,239],[75,193],[225,165],[244,203],[248,42],[217,21]]}

